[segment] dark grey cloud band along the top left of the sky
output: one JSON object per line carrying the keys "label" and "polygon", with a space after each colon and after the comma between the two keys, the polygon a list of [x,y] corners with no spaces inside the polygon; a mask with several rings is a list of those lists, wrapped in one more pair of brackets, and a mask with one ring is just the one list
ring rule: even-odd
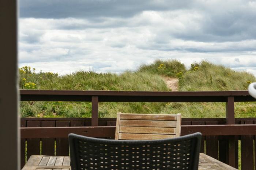
{"label": "dark grey cloud band along the top left of the sky", "polygon": [[19,0],[22,18],[92,18],[92,17],[131,17],[145,10],[169,10],[184,8],[189,0]]}

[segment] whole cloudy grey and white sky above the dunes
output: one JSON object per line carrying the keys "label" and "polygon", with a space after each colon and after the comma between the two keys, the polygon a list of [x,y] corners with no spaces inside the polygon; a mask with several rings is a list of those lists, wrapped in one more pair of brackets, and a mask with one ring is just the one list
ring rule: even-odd
{"label": "whole cloudy grey and white sky above the dunes", "polygon": [[19,0],[19,67],[122,72],[206,59],[256,75],[256,1]]}

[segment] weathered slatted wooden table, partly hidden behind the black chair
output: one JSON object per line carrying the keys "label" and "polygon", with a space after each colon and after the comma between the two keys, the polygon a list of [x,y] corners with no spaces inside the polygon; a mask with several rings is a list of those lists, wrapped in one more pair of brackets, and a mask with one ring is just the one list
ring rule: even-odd
{"label": "weathered slatted wooden table, partly hidden behind the black chair", "polygon": [[[199,170],[237,170],[206,154],[200,153]],[[32,155],[22,170],[71,170],[70,157]]]}

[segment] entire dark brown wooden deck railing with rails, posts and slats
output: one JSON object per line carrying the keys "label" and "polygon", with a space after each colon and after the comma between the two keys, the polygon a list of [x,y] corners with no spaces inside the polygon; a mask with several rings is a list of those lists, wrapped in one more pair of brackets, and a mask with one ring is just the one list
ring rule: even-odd
{"label": "entire dark brown wooden deck railing with rails, posts and slats", "polygon": [[[242,170],[253,169],[256,118],[234,117],[234,102],[256,101],[248,91],[127,92],[77,90],[20,90],[21,101],[89,101],[91,118],[21,118],[22,165],[30,155],[68,155],[69,133],[113,138],[115,118],[98,118],[98,102],[225,102],[226,118],[182,119],[181,135],[201,132],[201,152],[238,167],[241,141]],[[242,125],[246,124],[246,125]],[[26,147],[27,143],[27,147]],[[55,144],[56,143],[56,144]],[[55,149],[56,147],[56,149]],[[255,157],[256,158],[256,157]]]}

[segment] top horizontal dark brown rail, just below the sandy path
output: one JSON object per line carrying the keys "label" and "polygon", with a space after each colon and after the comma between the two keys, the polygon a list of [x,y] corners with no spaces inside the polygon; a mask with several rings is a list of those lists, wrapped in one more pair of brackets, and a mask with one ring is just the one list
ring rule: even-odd
{"label": "top horizontal dark brown rail, just below the sandy path", "polygon": [[204,92],[141,92],[141,91],[83,91],[83,90],[20,90],[21,101],[92,101],[99,102],[226,102],[256,101],[248,91],[204,91]]}

